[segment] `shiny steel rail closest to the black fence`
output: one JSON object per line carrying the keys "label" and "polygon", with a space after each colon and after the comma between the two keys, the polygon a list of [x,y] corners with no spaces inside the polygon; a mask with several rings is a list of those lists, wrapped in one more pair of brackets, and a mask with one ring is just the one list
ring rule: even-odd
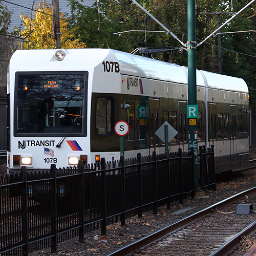
{"label": "shiny steel rail closest to the black fence", "polygon": [[[185,225],[202,218],[203,216],[207,215],[210,211],[214,210],[215,208],[221,208],[225,205],[236,202],[239,199],[245,197],[245,195],[250,195],[252,193],[256,193],[256,187],[252,187],[250,189],[244,190],[234,196],[226,198],[226,199],[224,199],[216,204],[213,204],[205,209],[195,212],[194,214],[191,214],[191,215],[189,215],[179,221],[176,221],[160,230],[157,230],[156,232],[149,234],[149,235],[147,235],[129,245],[123,246],[113,252],[110,252],[110,253],[106,254],[106,256],[129,255],[130,253],[132,253],[148,244],[151,244],[152,242],[162,238],[163,236],[166,236],[166,234],[173,232],[178,228],[184,227]],[[256,225],[256,223],[254,225]],[[216,255],[221,255],[221,254],[216,254]]]}

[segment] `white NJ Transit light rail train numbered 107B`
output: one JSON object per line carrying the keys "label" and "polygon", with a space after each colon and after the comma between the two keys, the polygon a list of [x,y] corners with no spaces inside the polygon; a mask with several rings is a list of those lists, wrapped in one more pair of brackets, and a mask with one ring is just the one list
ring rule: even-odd
{"label": "white NJ Transit light rail train numbered 107B", "polygon": [[[8,70],[8,168],[47,169],[120,158],[115,124],[129,123],[125,158],[164,153],[155,132],[188,150],[187,68],[111,49],[17,50]],[[214,144],[216,172],[248,164],[248,88],[197,70],[198,145]]]}

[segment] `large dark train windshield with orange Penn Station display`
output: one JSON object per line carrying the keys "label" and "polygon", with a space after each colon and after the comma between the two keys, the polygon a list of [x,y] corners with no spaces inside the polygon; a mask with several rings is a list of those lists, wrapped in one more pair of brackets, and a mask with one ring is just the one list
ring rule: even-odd
{"label": "large dark train windshield with orange Penn Station display", "polygon": [[15,135],[86,135],[87,73],[17,72],[15,79]]}

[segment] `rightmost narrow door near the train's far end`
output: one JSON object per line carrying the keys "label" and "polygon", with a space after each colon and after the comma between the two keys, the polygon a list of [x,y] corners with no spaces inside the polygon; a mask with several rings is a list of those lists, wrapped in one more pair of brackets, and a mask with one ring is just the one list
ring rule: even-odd
{"label": "rightmost narrow door near the train's far end", "polygon": [[236,105],[230,105],[230,167],[237,165]]}

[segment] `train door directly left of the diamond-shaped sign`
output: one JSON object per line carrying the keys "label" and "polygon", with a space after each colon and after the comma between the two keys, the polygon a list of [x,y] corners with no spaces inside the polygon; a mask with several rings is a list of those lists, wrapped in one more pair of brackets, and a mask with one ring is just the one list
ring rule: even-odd
{"label": "train door directly left of the diamond-shaped sign", "polygon": [[157,98],[150,98],[150,155],[159,145],[159,138],[155,134],[159,128],[159,101]]}

